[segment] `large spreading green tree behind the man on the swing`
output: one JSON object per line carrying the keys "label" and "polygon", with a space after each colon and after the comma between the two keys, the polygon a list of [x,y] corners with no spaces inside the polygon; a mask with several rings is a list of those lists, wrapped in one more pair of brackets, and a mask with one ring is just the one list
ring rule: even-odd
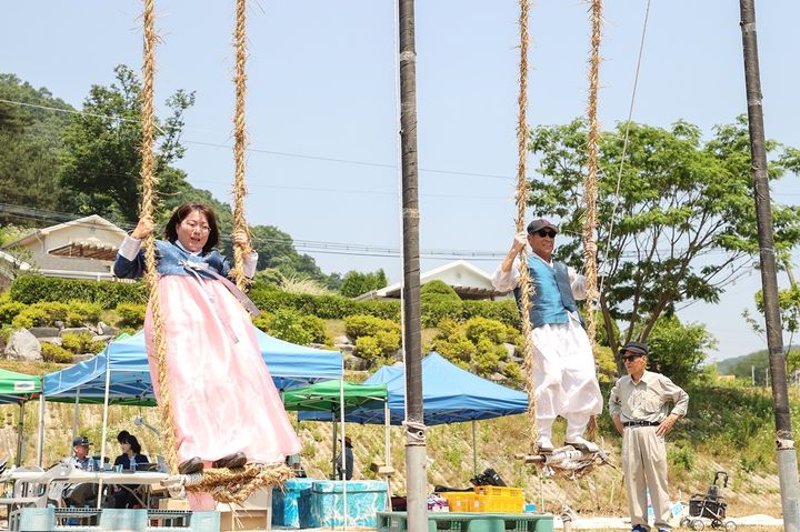
{"label": "large spreading green tree behind the man on the swing", "polygon": [[[678,303],[718,302],[726,283],[750,268],[758,252],[744,118],[714,128],[708,141],[684,121],[670,129],[631,123],[620,172],[624,130],[620,123],[601,135],[604,178],[598,183],[598,261],[606,275],[600,303],[614,352],[614,320],[626,323],[624,340],[634,332],[646,340]],[[529,203],[536,212],[560,218],[562,234],[580,234],[584,123],[537,128],[530,140],[540,177],[532,181]],[[794,150],[774,141],[767,148],[770,179],[800,168]],[[800,239],[800,208],[773,204],[772,212],[776,251],[782,258]],[[580,268],[579,245],[578,238],[559,242],[558,257]]]}

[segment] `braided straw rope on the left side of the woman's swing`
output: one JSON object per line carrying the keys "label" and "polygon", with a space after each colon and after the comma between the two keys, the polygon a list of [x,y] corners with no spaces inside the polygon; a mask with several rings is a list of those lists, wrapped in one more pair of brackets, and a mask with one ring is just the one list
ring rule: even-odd
{"label": "braided straw rope on the left side of the woman's swing", "polygon": [[[153,130],[156,118],[153,110],[153,78],[156,72],[156,14],[154,0],[144,0],[144,12],[142,20],[144,24],[144,58],[142,63],[142,91],[141,91],[141,120],[142,120],[142,215],[152,215],[156,203],[156,187],[158,178],[153,174]],[[161,317],[161,302],[158,291],[158,272],[156,271],[156,238],[150,234],[144,241],[144,280],[150,292],[150,311],[152,313],[152,334],[156,344],[156,359],[158,360],[158,381],[160,397],[158,401],[161,415],[161,426],[164,434],[164,449],[167,463],[172,471],[178,466],[177,445],[174,438],[174,424],[172,422],[172,410],[170,408],[169,383],[167,380],[167,339],[163,331],[163,318]]]}

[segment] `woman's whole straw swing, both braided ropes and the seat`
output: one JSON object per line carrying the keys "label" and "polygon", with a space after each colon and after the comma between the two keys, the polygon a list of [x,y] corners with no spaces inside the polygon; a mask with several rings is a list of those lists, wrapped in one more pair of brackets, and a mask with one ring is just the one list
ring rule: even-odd
{"label": "woman's whole straw swing, both braided ropes and the seat", "polygon": [[[236,20],[236,116],[234,116],[234,209],[233,225],[234,230],[247,231],[247,223],[243,214],[243,202],[247,193],[244,185],[244,96],[246,80],[244,62],[247,57],[246,49],[246,0],[237,0],[237,20]],[[142,215],[152,215],[156,203],[156,184],[157,178],[153,174],[154,157],[153,157],[153,130],[154,130],[154,111],[153,111],[153,77],[154,77],[154,48],[157,34],[154,30],[154,0],[144,1],[143,11],[144,27],[144,59],[142,66]],[[244,288],[246,278],[243,274],[243,257],[239,247],[234,247],[233,255],[233,278],[240,289]],[[152,235],[148,237],[144,242],[146,273],[144,279],[149,290],[150,307],[153,315],[153,345],[156,358],[158,360],[158,382],[160,388],[159,413],[161,424],[163,426],[164,450],[167,463],[171,471],[177,470],[177,442],[176,429],[173,424],[173,410],[170,401],[169,381],[167,378],[167,342],[164,334],[164,322],[161,315],[161,305],[159,302],[158,291],[158,273],[156,271],[156,245]],[[184,490],[193,492],[210,493],[214,500],[223,503],[242,503],[254,491],[269,485],[279,485],[293,476],[291,470],[283,463],[276,465],[248,464],[244,468],[237,469],[204,469],[202,473],[190,475],[176,475],[167,482],[170,491],[173,493],[182,493]]]}

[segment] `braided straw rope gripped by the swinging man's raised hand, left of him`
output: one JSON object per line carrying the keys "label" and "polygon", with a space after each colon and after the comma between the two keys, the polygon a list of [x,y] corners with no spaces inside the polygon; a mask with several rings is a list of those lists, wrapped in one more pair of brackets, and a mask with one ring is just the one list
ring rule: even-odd
{"label": "braided straw rope gripped by the swinging man's raised hand, left of him", "polygon": [[[517,103],[519,113],[517,117],[517,232],[524,231],[526,207],[528,203],[528,180],[526,168],[528,163],[528,120],[526,111],[528,108],[528,0],[520,0],[520,66],[519,66],[519,96]],[[528,271],[528,260],[524,249],[520,252],[520,299],[522,301],[521,320],[522,337],[524,338],[524,368],[526,368],[526,391],[528,392],[528,425],[530,431],[531,448],[536,448],[539,439],[539,430],[536,421],[536,389],[533,387],[533,345],[531,344],[530,307],[533,285]]]}

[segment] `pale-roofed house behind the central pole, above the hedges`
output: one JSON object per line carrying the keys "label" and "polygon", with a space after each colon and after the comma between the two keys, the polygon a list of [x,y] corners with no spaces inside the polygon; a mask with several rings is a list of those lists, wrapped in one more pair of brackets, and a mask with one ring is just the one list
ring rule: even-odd
{"label": "pale-roofed house behind the central pole, above the hedges", "polygon": [[[491,283],[491,275],[466,260],[449,262],[420,274],[420,284],[430,281],[443,281],[461,299],[508,299],[509,292],[498,292]],[[380,290],[372,290],[356,298],[357,301],[400,299],[400,284],[394,283]]]}

